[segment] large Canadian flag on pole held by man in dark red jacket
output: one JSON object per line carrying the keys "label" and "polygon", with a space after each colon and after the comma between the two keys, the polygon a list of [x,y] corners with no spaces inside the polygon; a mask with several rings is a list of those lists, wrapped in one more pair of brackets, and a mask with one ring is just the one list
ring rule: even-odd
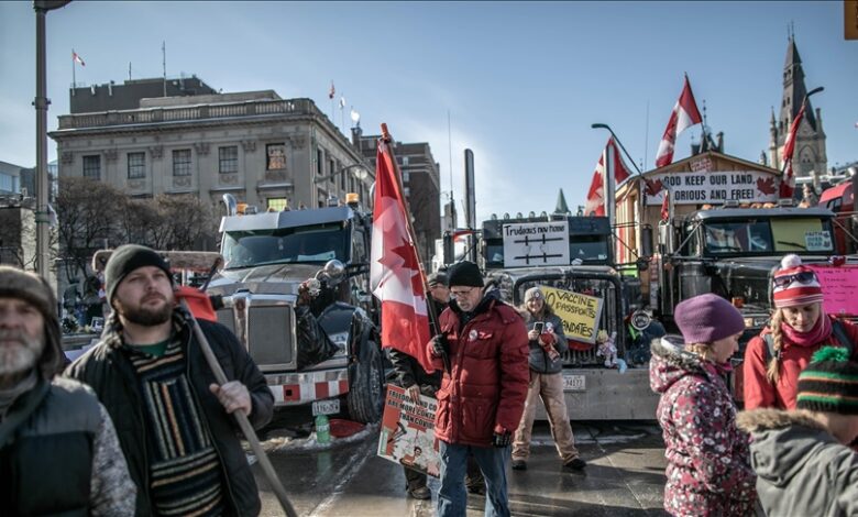
{"label": "large Canadian flag on pole held by man in dark red jacket", "polygon": [[405,198],[399,189],[393,156],[378,142],[373,209],[373,249],[370,286],[382,302],[382,346],[391,346],[417,359],[432,372],[426,353],[429,316],[417,249],[408,233]]}

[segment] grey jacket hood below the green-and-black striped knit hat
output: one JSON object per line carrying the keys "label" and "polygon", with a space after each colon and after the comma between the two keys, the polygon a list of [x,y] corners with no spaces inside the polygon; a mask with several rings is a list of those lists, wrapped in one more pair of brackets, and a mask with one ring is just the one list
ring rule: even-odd
{"label": "grey jacket hood below the green-and-black striped knit hat", "polygon": [[814,449],[837,443],[820,422],[798,411],[741,411],[736,425],[754,437],[751,466],[757,475],[776,486],[785,486],[806,469]]}

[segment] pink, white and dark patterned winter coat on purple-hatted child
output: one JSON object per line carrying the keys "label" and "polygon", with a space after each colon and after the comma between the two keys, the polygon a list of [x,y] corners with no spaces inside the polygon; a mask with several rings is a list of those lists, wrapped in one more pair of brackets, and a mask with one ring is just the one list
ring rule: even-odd
{"label": "pink, white and dark patterned winter coat on purple-hatted child", "polygon": [[668,459],[664,509],[672,515],[752,515],[756,482],[748,436],[718,367],[667,338],[652,341],[650,387]]}

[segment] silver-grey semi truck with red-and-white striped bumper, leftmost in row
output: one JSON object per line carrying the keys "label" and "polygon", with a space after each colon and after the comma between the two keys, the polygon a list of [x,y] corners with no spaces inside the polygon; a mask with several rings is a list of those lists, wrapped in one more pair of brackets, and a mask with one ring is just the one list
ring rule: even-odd
{"label": "silver-grey semi truck with red-and-white striped bumper, leftmost in row", "polygon": [[[369,294],[371,216],[356,205],[239,215],[234,200],[224,204],[224,266],[208,293],[222,298],[218,320],[248,349],[276,404],[331,414],[344,400],[352,419],[377,420],[384,374]],[[308,279],[319,280],[309,315],[299,302]],[[302,326],[307,318],[323,336]],[[314,340],[327,339],[336,352],[314,360]]]}

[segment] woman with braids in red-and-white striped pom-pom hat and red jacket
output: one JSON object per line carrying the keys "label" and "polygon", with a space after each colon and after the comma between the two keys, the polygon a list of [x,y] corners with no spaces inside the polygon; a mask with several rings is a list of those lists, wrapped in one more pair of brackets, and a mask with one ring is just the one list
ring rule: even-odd
{"label": "woman with braids in red-and-white striped pom-pom hat and red jacket", "polygon": [[825,314],[820,279],[801,257],[784,256],[772,284],[771,322],[745,349],[746,409],[795,409],[799,373],[823,345],[846,346],[858,359],[858,327]]}

